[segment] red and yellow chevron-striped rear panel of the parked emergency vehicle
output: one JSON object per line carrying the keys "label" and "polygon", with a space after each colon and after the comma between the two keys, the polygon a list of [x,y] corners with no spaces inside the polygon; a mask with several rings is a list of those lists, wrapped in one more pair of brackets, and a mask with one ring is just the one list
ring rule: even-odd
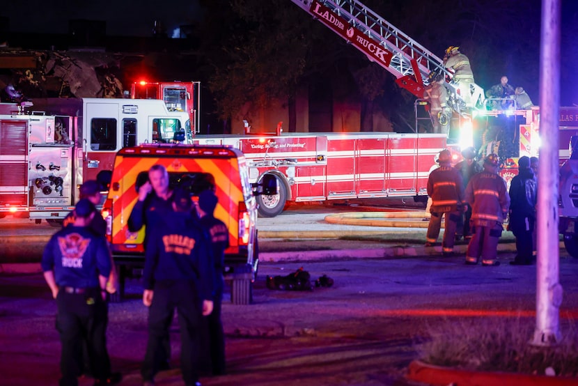
{"label": "red and yellow chevron-striped rear panel of the parked emergency vehicle", "polygon": [[[132,233],[127,222],[134,204],[138,199],[136,193],[136,177],[142,171],[147,171],[155,164],[162,164],[171,172],[203,172],[210,173],[216,184],[216,194],[219,203],[215,209],[215,217],[221,219],[229,230],[231,247],[238,245],[238,213],[239,203],[244,201],[239,165],[236,157],[230,158],[190,158],[190,157],[142,157],[118,156],[114,165],[111,186],[118,183],[118,191],[111,190],[109,199],[112,201],[112,244],[141,245],[144,240],[144,229]],[[142,251],[139,248],[132,251]]]}

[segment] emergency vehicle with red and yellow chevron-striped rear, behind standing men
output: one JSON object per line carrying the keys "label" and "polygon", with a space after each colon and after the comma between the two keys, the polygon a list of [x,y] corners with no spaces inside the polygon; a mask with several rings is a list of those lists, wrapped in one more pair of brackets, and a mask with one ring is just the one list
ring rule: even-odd
{"label": "emergency vehicle with red and yellow chevron-striped rear, behind standing men", "polygon": [[256,196],[276,194],[276,179],[264,178],[251,185],[247,160],[231,146],[180,144],[143,144],[123,148],[116,154],[102,210],[119,277],[119,291],[113,300],[123,297],[125,279],[142,274],[145,228],[131,232],[127,222],[139,187],[146,183],[148,169],[155,164],[166,167],[169,186],[185,187],[193,199],[205,189],[214,189],[219,199],[214,216],[229,231],[224,275],[231,283],[231,301],[249,304],[259,262]]}

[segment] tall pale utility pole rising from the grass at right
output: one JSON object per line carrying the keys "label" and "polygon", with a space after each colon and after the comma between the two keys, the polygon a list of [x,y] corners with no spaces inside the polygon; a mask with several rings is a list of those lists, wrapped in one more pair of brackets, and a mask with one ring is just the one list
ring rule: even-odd
{"label": "tall pale utility pole rising from the grass at right", "polygon": [[540,168],[538,171],[538,257],[536,267],[536,330],[532,344],[561,341],[559,326],[562,286],[558,231],[560,19],[561,0],[542,0],[540,31]]}

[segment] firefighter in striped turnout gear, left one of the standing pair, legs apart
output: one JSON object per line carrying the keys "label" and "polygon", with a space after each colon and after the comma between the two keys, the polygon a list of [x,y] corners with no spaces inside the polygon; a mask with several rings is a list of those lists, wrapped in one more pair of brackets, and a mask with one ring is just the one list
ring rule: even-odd
{"label": "firefighter in striped turnout gear, left one of the standing pair, legs apart", "polygon": [[442,254],[453,255],[455,227],[462,210],[464,185],[458,169],[451,167],[451,153],[444,149],[437,157],[439,168],[433,170],[428,178],[428,195],[432,198],[430,207],[430,224],[425,246],[431,247],[437,241],[442,226],[442,215],[445,216]]}

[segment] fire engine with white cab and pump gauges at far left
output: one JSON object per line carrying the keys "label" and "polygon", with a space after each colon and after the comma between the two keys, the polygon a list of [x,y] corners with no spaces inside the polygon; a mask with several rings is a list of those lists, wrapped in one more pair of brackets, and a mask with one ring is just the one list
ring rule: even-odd
{"label": "fire engine with white cab and pump gauges at far left", "polygon": [[57,224],[74,208],[78,187],[107,190],[116,152],[142,143],[192,140],[189,118],[161,100],[38,99],[0,105],[0,218]]}

